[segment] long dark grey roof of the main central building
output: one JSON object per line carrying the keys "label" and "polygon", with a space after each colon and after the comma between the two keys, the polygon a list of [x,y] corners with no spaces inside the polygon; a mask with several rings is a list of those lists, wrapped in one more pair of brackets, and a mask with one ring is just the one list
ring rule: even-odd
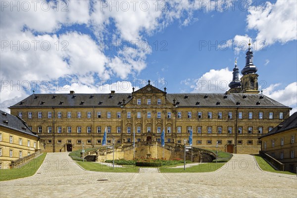
{"label": "long dark grey roof of the main central building", "polygon": [[[154,88],[153,86],[151,87]],[[145,89],[140,90],[145,91]],[[128,103],[135,96],[136,92],[132,94],[33,94],[10,106],[10,108],[120,107],[124,104],[124,101]],[[290,108],[260,94],[166,94],[166,92],[161,90],[158,92],[163,93],[166,99],[172,103],[172,106],[177,105],[178,107]],[[154,93],[151,94],[153,95]],[[148,92],[146,92],[146,95],[148,95]]]}

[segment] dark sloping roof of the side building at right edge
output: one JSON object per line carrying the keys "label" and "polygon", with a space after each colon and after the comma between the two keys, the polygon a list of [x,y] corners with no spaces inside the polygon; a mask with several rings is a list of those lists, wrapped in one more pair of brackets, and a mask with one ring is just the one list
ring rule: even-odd
{"label": "dark sloping roof of the side building at right edge", "polygon": [[267,134],[261,136],[261,138],[266,136],[271,136],[277,133],[281,133],[290,129],[297,128],[297,112],[293,113],[290,117],[280,123],[277,127],[274,127],[271,131]]}

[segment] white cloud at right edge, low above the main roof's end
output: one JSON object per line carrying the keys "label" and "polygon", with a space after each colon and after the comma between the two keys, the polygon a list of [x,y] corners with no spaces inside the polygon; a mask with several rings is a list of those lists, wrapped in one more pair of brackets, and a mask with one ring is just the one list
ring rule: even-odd
{"label": "white cloud at right edge, low above the main roof's end", "polygon": [[284,105],[293,107],[290,114],[297,111],[297,82],[287,85],[284,89],[277,89],[281,84],[272,84],[263,89],[263,94]]}

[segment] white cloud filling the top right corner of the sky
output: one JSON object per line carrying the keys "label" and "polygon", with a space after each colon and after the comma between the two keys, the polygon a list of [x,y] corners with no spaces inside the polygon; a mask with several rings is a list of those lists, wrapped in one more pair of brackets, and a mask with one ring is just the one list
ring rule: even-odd
{"label": "white cloud filling the top right corner of the sky", "polygon": [[278,0],[275,4],[266,2],[266,6],[249,6],[247,28],[256,30],[257,41],[287,43],[297,39],[297,1]]}

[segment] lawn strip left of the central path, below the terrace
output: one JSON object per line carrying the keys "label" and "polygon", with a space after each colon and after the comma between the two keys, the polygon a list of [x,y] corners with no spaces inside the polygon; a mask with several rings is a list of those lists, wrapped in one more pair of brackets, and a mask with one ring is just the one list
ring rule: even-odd
{"label": "lawn strip left of the central path, below the terrace", "polygon": [[83,167],[86,170],[91,170],[91,171],[99,171],[99,172],[116,172],[116,173],[137,173],[139,171],[139,168],[136,166],[127,166],[125,168],[118,168],[102,165],[100,163],[95,163],[95,162],[89,162],[89,161],[76,161],[78,165]]}

